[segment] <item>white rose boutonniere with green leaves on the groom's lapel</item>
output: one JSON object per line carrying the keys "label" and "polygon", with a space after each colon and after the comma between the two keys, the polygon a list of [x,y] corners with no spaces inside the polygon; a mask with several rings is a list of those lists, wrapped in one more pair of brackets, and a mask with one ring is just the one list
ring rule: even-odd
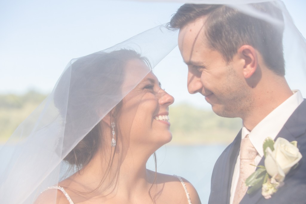
{"label": "white rose boutonniere with green leaves on the groom's lapel", "polygon": [[246,179],[245,184],[251,187],[248,194],[262,188],[261,194],[269,199],[282,187],[289,171],[297,167],[302,154],[297,148],[297,141],[289,142],[284,138],[277,138],[275,142],[267,138],[263,143],[263,152],[265,166],[258,166],[259,168]]}

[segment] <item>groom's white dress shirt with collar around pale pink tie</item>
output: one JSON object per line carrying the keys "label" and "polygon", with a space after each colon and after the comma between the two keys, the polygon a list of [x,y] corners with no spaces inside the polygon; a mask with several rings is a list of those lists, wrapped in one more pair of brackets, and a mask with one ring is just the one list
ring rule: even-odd
{"label": "groom's white dress shirt with collar around pale pink tie", "polygon": [[[285,125],[292,113],[304,100],[299,90],[292,90],[293,95],[275,108],[269,115],[260,121],[250,132],[246,127],[242,127],[241,138],[245,138],[249,134],[250,141],[257,150],[258,154],[255,158],[255,165],[258,165],[263,157],[263,142],[267,137],[273,140],[278,135],[282,127]],[[239,178],[240,153],[234,169],[230,204],[233,203],[237,182]],[[254,167],[255,171],[256,167]]]}

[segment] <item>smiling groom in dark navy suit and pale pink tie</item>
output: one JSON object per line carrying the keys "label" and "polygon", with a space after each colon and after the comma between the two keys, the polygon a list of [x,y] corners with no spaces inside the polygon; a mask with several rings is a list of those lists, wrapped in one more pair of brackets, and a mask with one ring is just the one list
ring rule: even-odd
{"label": "smiling groom in dark navy suit and pale pink tie", "polygon": [[[253,9],[283,22],[272,3]],[[240,117],[242,129],[218,158],[209,203],[306,203],[306,100],[285,80],[283,25],[272,25],[224,5],[185,4],[168,27],[179,29],[178,46],[188,66],[188,92],[200,93],[222,117]],[[265,165],[263,142],[297,141],[302,159],[284,185],[266,199],[261,187],[246,193],[245,179]],[[246,142],[242,142],[246,141]],[[244,164],[244,146],[253,151]],[[251,167],[251,168],[250,168]],[[248,170],[247,170],[248,169]]]}

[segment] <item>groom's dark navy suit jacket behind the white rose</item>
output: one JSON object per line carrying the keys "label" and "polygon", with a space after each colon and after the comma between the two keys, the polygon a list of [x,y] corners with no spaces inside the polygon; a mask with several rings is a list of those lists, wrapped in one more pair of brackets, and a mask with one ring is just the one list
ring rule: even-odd
{"label": "groom's dark navy suit jacket behind the white rose", "polygon": [[[272,198],[265,199],[261,195],[261,189],[252,195],[246,194],[240,203],[284,203],[300,204],[306,203],[306,100],[299,105],[285,123],[276,138],[282,137],[289,142],[296,140],[300,149],[302,159],[296,169],[291,170],[285,177],[285,184],[272,195]],[[275,138],[275,139],[276,139]],[[211,176],[211,193],[209,204],[230,203],[230,189],[232,177],[239,155],[241,141],[241,130],[234,141],[223,151],[216,161]],[[264,157],[259,165],[264,165]]]}

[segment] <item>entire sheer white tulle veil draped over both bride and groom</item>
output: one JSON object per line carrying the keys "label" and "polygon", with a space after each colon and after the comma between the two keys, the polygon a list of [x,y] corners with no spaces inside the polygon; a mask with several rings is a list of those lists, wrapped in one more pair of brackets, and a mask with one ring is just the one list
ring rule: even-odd
{"label": "entire sheer white tulle veil draped over both bride and groom", "polygon": [[[250,16],[272,24],[282,24],[246,4],[263,2],[263,0],[173,0],[169,2],[228,4]],[[162,6],[162,2],[155,3]],[[284,16],[283,44],[286,74],[291,77],[296,76],[293,78],[297,79],[289,81],[289,85],[293,89],[306,87],[305,39],[295,27],[283,2],[275,1],[274,3],[282,10]],[[0,172],[1,203],[32,203],[40,192],[58,183],[66,168],[62,162],[63,158],[177,46],[177,34],[178,31],[168,30],[163,24],[103,51],[72,59],[50,95],[19,125],[0,149],[0,162],[5,166]],[[97,68],[99,63],[104,63],[99,61],[100,58],[120,50],[136,51],[147,59],[150,69],[135,67],[134,70],[123,68],[120,72],[111,72]],[[116,55],[114,59],[116,57],[118,60],[129,59],[128,54]],[[178,56],[177,60],[181,60],[181,57]],[[167,69],[167,67],[158,68]],[[75,71],[78,69],[88,71],[84,75],[82,71]],[[175,74],[169,77],[171,80]],[[73,90],[78,90],[75,94],[71,93],[72,83],[77,87]],[[76,95],[78,97],[74,98]],[[199,194],[202,193],[199,192]],[[54,195],[54,203],[55,199]]]}

